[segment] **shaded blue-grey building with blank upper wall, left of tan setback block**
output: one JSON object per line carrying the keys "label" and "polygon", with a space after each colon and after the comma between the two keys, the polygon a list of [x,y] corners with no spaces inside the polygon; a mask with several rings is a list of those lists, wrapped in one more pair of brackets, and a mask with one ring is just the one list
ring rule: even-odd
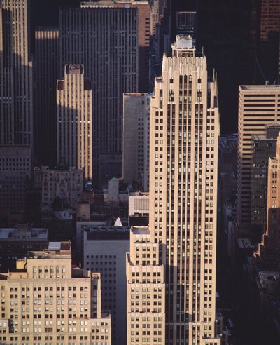
{"label": "shaded blue-grey building with blank upper wall, left of tan setback block", "polygon": [[84,230],[83,267],[101,275],[102,306],[111,312],[112,344],[127,344],[125,256],[130,251],[130,229],[121,227]]}

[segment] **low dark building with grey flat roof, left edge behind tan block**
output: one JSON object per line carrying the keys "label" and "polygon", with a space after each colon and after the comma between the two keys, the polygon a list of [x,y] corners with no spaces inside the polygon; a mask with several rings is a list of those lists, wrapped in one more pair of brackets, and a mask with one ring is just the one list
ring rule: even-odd
{"label": "low dark building with grey flat roof, left edge behind tan block", "polygon": [[0,228],[0,270],[15,269],[17,259],[26,257],[30,250],[48,248],[48,230],[18,224],[14,228]]}

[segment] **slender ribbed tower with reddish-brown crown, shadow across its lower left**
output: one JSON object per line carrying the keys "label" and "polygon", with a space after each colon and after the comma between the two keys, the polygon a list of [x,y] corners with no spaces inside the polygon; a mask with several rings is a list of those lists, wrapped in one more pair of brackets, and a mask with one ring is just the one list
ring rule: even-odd
{"label": "slender ribbed tower with reddish-brown crown, shadow across its lower left", "polygon": [[57,81],[57,163],[84,169],[92,180],[92,85],[83,65],[65,65]]}

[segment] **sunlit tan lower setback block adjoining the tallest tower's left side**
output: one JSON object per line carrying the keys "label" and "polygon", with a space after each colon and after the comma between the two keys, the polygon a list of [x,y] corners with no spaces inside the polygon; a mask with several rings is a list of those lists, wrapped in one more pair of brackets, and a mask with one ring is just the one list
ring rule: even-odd
{"label": "sunlit tan lower setback block adjoining the tallest tower's left side", "polygon": [[165,344],[165,266],[147,227],[132,227],[127,253],[127,345]]}

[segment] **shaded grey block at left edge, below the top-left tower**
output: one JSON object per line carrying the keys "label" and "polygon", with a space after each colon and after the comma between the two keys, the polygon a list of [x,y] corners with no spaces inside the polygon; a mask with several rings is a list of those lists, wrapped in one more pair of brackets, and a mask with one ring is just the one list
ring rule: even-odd
{"label": "shaded grey block at left edge, below the top-left tower", "polygon": [[0,213],[20,212],[31,180],[31,147],[0,146]]}

